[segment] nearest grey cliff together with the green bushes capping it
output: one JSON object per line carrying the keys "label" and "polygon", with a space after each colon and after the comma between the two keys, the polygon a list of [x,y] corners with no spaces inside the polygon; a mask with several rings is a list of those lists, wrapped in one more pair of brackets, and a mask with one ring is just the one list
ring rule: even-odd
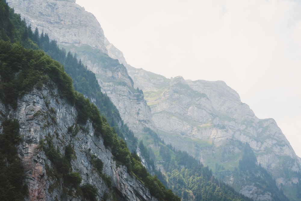
{"label": "nearest grey cliff together with the green bushes capping it", "polygon": [[1,134],[10,125],[19,127],[14,134],[20,136],[17,152],[28,187],[26,200],[157,200],[113,160],[104,131],[98,133],[97,118],[84,123],[85,112],[79,110],[87,111],[87,103],[72,95],[71,79],[57,62],[9,42],[0,42],[0,47]]}

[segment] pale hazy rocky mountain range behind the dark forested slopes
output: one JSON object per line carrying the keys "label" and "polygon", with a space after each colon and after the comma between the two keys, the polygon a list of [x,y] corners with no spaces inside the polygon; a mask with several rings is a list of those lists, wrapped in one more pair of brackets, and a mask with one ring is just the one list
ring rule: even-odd
{"label": "pale hazy rocky mountain range behind the dark forested slopes", "polygon": [[[74,1],[8,3],[27,24],[76,53],[95,73],[123,121],[154,150],[155,164],[163,173],[166,167],[157,154],[160,146],[150,140],[157,134],[166,144],[208,165],[216,177],[244,195],[272,200],[278,190],[291,200],[299,199],[300,158],[275,121],[258,119],[224,82],[167,79],[131,67],[104,37],[95,17]],[[246,171],[244,163],[252,164],[256,171]],[[265,169],[272,174],[271,185],[274,179],[278,189],[269,189]]]}

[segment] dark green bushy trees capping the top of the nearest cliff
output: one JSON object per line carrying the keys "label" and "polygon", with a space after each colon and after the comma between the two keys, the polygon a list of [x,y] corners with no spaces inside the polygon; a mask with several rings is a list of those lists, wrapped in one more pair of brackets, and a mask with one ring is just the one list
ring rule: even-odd
{"label": "dark green bushy trees capping the top of the nearest cliff", "polygon": [[12,108],[17,107],[18,97],[49,80],[58,85],[61,96],[70,102],[75,99],[72,80],[64,68],[41,51],[0,41],[0,75],[0,98]]}

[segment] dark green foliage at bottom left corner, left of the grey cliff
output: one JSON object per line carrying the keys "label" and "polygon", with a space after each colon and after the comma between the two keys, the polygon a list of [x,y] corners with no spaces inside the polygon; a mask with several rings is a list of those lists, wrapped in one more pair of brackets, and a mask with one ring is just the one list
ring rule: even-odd
{"label": "dark green foliage at bottom left corner, left of the grey cliff", "polygon": [[0,200],[22,200],[27,193],[23,185],[23,165],[16,145],[20,143],[19,123],[7,119],[0,133]]}

